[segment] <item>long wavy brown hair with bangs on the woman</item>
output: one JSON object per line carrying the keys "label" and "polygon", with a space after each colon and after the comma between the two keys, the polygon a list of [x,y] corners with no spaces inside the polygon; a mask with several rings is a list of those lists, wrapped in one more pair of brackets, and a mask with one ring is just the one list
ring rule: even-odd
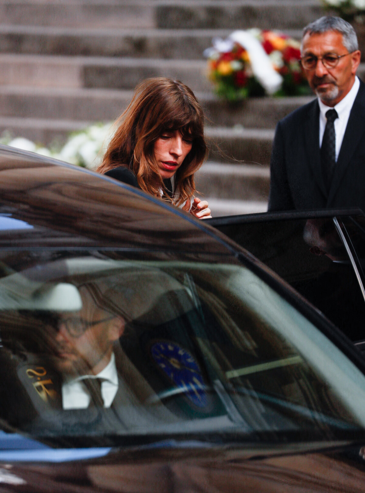
{"label": "long wavy brown hair with bangs on the woman", "polygon": [[[191,89],[179,80],[155,77],[141,82],[127,109],[115,122],[116,131],[108,145],[99,173],[125,166],[137,176],[145,192],[175,205],[191,199],[195,192],[194,173],[204,163],[208,150],[204,140],[203,109]],[[155,141],[166,131],[179,130],[192,139],[192,148],[175,173],[173,199],[166,189],[154,158]]]}

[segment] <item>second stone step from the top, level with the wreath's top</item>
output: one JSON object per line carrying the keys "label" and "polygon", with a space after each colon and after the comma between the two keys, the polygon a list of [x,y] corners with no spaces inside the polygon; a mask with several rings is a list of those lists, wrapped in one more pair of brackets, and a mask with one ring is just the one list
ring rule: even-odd
{"label": "second stone step from the top, level with the wreath's top", "polygon": [[[87,29],[0,25],[2,53],[201,60],[229,29]],[[286,30],[297,39],[300,30]]]}

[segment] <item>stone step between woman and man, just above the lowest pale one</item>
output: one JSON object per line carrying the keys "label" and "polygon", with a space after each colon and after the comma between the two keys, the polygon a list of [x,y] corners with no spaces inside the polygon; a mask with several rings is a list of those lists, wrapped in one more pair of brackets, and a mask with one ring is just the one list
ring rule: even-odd
{"label": "stone step between woman and man, just above the lowest pale one", "polygon": [[216,199],[267,201],[270,170],[267,167],[206,163],[196,173],[197,190]]}

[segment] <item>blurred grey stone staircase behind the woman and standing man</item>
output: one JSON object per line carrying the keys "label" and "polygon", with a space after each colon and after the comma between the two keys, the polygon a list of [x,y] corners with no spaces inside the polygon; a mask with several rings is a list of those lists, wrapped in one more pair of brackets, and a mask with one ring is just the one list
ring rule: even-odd
{"label": "blurred grey stone staircase behind the woman and standing man", "polygon": [[197,186],[213,214],[265,211],[275,125],[311,98],[223,103],[202,52],[234,29],[299,38],[322,14],[319,0],[0,0],[0,133],[62,142],[116,118],[140,80],[178,78],[206,112]]}

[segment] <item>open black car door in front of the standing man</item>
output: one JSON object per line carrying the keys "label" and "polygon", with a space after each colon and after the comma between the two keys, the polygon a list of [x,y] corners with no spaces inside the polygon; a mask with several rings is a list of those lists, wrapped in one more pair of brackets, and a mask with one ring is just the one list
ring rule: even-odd
{"label": "open black car door in front of the standing man", "polygon": [[360,209],[209,219],[365,352],[365,215]]}

